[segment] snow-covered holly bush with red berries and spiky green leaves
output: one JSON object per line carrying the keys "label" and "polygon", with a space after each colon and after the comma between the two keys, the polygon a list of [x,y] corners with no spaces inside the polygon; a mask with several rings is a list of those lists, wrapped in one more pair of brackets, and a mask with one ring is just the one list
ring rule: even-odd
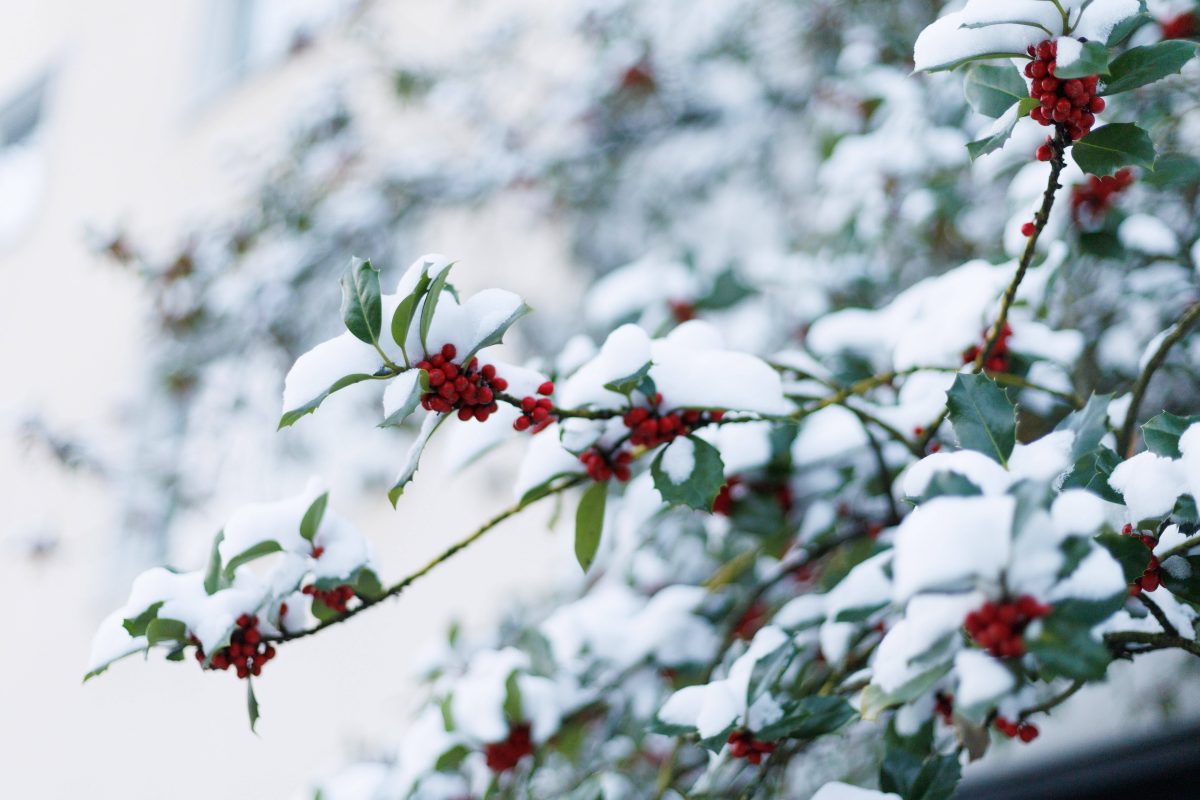
{"label": "snow-covered holly bush with red berries and spiky green leaves", "polygon": [[[1200,655],[1194,10],[968,0],[926,8],[898,49],[887,14],[923,4],[840,5],[863,17],[808,71],[775,40],[680,34],[636,4],[581,23],[623,65],[589,120],[614,150],[602,179],[572,175],[598,169],[581,145],[541,180],[593,223],[584,249],[676,198],[654,252],[596,259],[577,330],[522,363],[496,356],[536,319],[516,293],[467,296],[468,265],[442,254],[386,284],[353,258],[344,331],[294,360],[277,420],[319,425],[331,395],[374,389],[374,425],[337,434],[407,433],[400,515],[427,447],[518,440],[511,505],[400,577],[317,482],[247,506],[205,566],[134,581],[89,676],[194,660],[246,680],[253,726],[253,682],[289,642],[403,602],[557,503],[574,588],[449,637],[394,754],[319,796],[943,799],[1114,661]],[[814,19],[726,13],[742,34]],[[690,102],[665,89],[684,71]],[[817,121],[774,128],[764,108]],[[676,162],[682,188],[644,182],[664,158],[647,130],[689,140],[702,200]]]}

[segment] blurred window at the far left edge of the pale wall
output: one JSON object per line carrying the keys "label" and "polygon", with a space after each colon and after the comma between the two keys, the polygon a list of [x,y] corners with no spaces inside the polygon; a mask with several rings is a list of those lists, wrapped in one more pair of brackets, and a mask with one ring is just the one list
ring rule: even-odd
{"label": "blurred window at the far left edge of the pale wall", "polygon": [[46,193],[42,115],[49,77],[0,103],[0,249],[14,245]]}

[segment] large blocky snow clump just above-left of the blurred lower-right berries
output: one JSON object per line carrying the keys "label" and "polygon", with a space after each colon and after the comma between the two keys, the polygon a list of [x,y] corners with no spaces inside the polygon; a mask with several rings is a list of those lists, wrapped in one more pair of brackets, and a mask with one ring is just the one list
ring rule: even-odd
{"label": "large blocky snow clump just above-left of the blurred lower-right berries", "polygon": [[1008,564],[1015,501],[1010,497],[940,497],[896,530],[895,599],[972,579],[995,581]]}

